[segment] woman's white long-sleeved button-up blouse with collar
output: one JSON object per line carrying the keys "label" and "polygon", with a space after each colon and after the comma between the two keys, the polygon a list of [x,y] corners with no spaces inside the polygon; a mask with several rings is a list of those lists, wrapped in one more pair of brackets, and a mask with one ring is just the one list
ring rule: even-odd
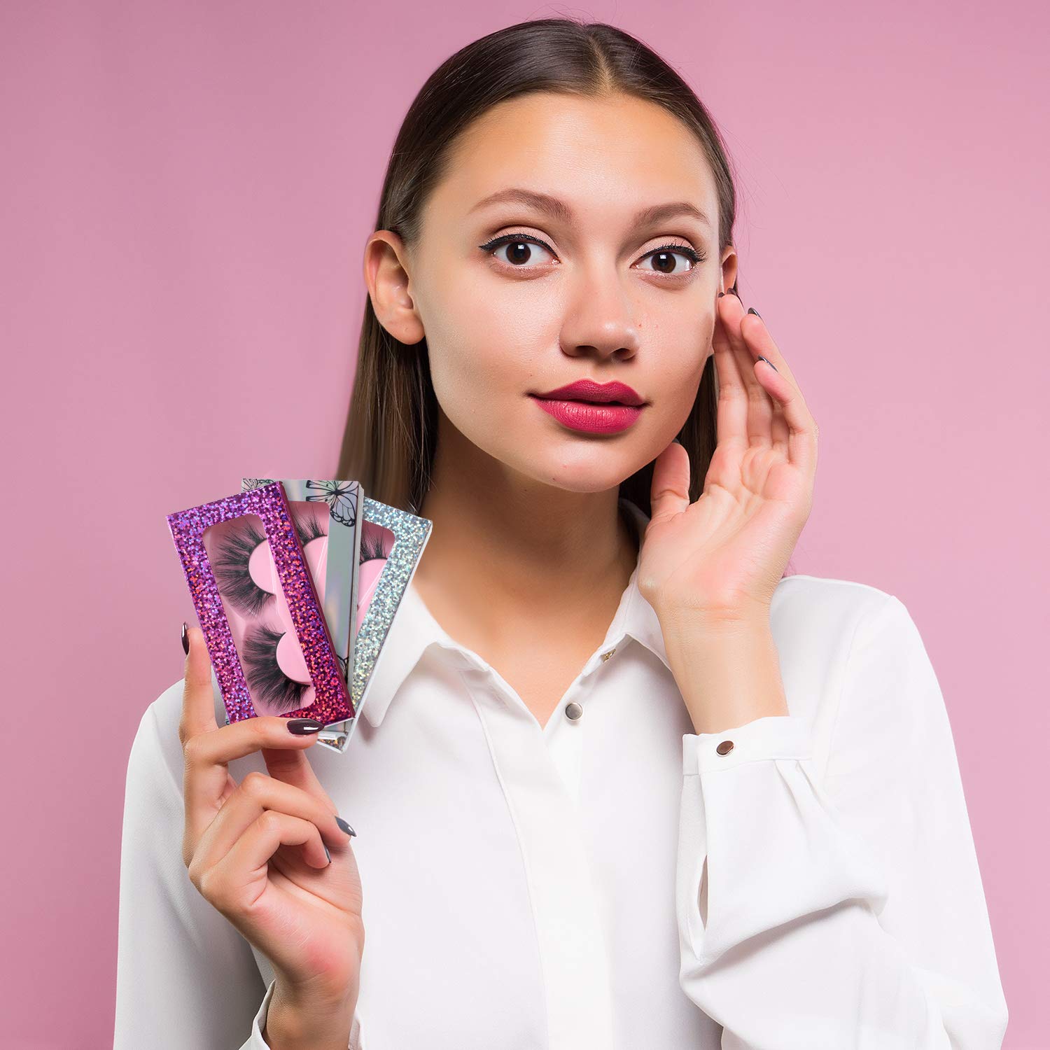
{"label": "woman's white long-sleeved button-up blouse with collar", "polygon": [[[357,832],[350,1046],[1001,1047],[951,729],[905,606],[785,576],[790,714],[695,734],[636,575],[545,727],[410,585],[346,752],[309,752]],[[273,969],[182,860],[181,707],[180,679],[128,762],[114,1050],[265,1050]]]}

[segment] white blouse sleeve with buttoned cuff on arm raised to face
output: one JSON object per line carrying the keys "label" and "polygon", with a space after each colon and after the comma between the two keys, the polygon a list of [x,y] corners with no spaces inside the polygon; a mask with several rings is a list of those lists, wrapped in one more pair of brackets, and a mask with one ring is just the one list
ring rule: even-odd
{"label": "white blouse sleeve with buttoned cuff on arm raised to face", "polygon": [[679,983],[723,1048],[1002,1046],[951,729],[897,597],[858,624],[823,777],[798,715],[686,734],[682,765]]}

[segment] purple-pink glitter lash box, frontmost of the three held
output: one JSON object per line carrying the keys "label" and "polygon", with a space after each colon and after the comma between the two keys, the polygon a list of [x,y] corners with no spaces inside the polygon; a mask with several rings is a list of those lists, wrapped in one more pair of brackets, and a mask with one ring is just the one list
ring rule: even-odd
{"label": "purple-pink glitter lash box, frontmost of the three held", "polygon": [[259,714],[323,726],[354,718],[281,483],[167,521],[230,722]]}

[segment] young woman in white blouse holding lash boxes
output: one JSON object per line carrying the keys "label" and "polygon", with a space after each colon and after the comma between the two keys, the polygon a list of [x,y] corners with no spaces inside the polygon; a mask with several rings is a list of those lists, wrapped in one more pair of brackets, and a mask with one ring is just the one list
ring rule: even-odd
{"label": "young woman in white blouse holding lash boxes", "polygon": [[344,755],[219,728],[184,627],[129,762],[118,1050],[1001,1045],[917,627],[784,574],[817,425],[734,216],[708,112],[620,29],[427,81],[335,476],[432,538]]}

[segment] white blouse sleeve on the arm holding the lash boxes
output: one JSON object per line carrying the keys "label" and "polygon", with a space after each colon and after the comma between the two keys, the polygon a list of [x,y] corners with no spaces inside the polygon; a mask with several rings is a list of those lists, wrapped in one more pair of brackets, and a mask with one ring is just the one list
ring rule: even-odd
{"label": "white blouse sleeve on the arm holding the lash boxes", "polygon": [[[175,726],[175,747],[165,739],[159,716],[181,708],[181,695],[178,682],[150,705],[128,759],[113,1050],[270,1050],[262,1029],[274,982],[266,986],[248,941],[183,863],[182,748]],[[356,1017],[349,1047],[364,1050]]]}

